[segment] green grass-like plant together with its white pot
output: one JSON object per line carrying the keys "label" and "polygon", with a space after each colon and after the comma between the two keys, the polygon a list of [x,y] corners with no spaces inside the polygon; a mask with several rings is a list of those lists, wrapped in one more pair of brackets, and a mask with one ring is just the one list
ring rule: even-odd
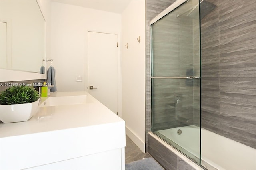
{"label": "green grass-like plant together with its white pot", "polygon": [[28,121],[39,103],[39,93],[29,86],[12,86],[0,94],[0,120],[4,123]]}

